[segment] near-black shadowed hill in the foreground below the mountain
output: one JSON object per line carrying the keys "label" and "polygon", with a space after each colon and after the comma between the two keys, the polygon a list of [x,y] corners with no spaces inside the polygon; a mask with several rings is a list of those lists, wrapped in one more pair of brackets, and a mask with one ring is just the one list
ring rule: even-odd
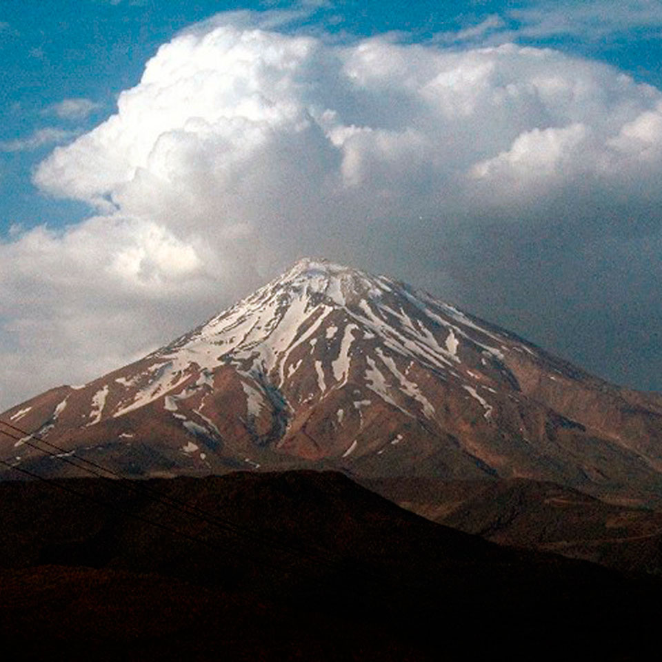
{"label": "near-black shadowed hill in the foreground below the mountain", "polygon": [[3,648],[38,659],[641,659],[662,616],[331,472],[9,481],[0,518]]}

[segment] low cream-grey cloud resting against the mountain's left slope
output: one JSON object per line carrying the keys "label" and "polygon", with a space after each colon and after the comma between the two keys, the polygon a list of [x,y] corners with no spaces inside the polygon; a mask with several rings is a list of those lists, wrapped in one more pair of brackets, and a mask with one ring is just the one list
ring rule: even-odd
{"label": "low cream-grey cloud resting against the mountain's left slope", "polygon": [[210,275],[194,245],[121,217],[0,243],[0,407],[103,374],[187,330],[182,319],[204,319],[216,266]]}

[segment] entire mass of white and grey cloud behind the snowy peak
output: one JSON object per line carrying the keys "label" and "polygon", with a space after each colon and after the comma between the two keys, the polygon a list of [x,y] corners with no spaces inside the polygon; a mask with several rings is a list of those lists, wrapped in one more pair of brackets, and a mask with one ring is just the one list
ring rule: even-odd
{"label": "entire mass of white and grey cloud behind the snowy peak", "polygon": [[[526,326],[526,306],[588,310],[601,261],[658,241],[659,90],[550,49],[339,44],[231,17],[161,46],[34,173],[96,215],[0,245],[5,405],[121,364],[301,254]],[[632,273],[613,305],[650,298]]]}

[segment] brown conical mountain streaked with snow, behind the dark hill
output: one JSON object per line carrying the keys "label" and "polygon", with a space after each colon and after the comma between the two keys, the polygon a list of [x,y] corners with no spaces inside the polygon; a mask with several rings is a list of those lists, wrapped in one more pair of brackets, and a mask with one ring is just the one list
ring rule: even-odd
{"label": "brown conical mountain streaked with snow, behind the dark hill", "polygon": [[86,472],[45,457],[28,432],[126,476],[334,468],[364,479],[523,478],[662,502],[659,396],[323,260],[299,261],[132,365],[1,418],[26,434],[0,439],[0,458],[48,475]]}

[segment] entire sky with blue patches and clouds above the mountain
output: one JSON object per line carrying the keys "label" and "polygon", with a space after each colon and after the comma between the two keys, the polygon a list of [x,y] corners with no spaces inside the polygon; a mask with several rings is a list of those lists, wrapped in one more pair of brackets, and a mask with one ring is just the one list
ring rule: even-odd
{"label": "entire sky with blue patches and clouds above the mountain", "polygon": [[0,409],[305,255],[662,390],[662,4],[0,1]]}

